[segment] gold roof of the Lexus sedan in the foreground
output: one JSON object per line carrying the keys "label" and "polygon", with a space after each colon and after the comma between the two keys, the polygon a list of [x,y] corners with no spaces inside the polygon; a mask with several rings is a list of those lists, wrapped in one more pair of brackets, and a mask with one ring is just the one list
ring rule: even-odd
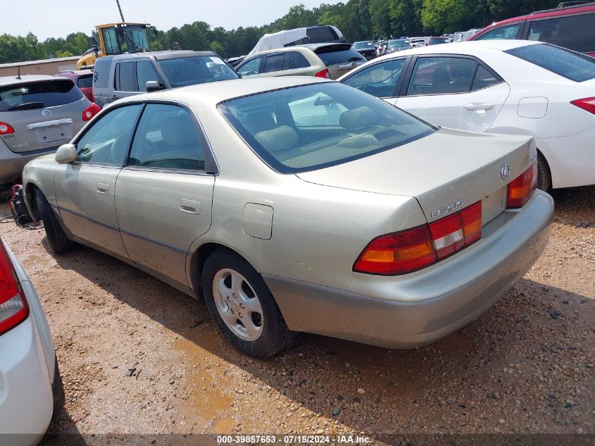
{"label": "gold roof of the Lexus sedan in the foreground", "polygon": [[276,89],[298,87],[300,85],[311,85],[324,82],[336,82],[334,80],[315,78],[313,76],[280,76],[273,78],[244,78],[219,80],[217,82],[206,82],[203,84],[189,85],[174,89],[165,89],[159,92],[139,94],[137,96],[120,99],[121,102],[139,100],[159,101],[180,101],[185,104],[199,104],[216,106],[221,101],[227,101],[238,97],[249,96],[269,92]]}

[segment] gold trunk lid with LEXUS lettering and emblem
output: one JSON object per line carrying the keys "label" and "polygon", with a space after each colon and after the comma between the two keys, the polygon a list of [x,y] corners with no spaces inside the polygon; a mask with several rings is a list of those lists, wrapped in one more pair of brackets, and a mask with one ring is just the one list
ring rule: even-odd
{"label": "gold trunk lid with LEXUS lettering and emblem", "polygon": [[428,222],[482,200],[485,224],[506,209],[508,182],[536,157],[530,137],[440,129],[380,154],[298,176],[331,187],[415,197]]}

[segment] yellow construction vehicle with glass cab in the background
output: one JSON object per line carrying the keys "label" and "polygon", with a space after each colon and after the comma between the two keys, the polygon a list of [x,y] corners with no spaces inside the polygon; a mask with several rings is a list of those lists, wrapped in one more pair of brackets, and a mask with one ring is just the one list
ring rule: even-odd
{"label": "yellow construction vehicle with glass cab in the background", "polygon": [[96,25],[97,38],[91,37],[91,48],[77,61],[77,68],[90,67],[95,59],[113,54],[138,53],[149,51],[147,30],[154,30],[149,23],[107,23]]}

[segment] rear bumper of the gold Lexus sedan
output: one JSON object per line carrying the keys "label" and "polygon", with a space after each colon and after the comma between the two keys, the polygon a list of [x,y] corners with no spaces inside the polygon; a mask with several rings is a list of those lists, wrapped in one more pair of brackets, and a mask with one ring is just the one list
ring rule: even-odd
{"label": "rear bumper of the gold Lexus sedan", "polygon": [[537,191],[520,211],[484,225],[484,237],[407,275],[353,273],[351,291],[263,275],[291,330],[390,348],[424,345],[465,326],[502,297],[543,252],[553,200]]}

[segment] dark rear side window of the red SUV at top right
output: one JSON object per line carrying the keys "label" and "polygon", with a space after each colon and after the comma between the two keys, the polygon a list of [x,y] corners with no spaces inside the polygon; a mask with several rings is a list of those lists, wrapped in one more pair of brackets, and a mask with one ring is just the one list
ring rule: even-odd
{"label": "dark rear side window of the red SUV at top right", "polygon": [[595,13],[532,21],[527,39],[581,53],[595,51]]}

